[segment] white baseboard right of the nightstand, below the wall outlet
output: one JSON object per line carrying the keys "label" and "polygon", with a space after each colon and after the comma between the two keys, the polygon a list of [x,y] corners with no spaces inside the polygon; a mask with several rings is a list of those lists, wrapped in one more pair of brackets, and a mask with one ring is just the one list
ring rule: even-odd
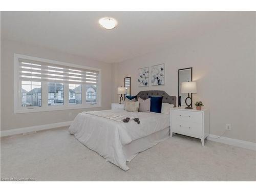
{"label": "white baseboard right of the nightstand, below the wall outlet", "polygon": [[210,141],[216,141],[216,142],[220,142],[220,143],[224,143],[224,144],[228,144],[228,145],[233,145],[233,146],[238,146],[241,148],[246,148],[247,150],[253,150],[256,151],[256,143],[253,142],[249,142],[249,141],[243,141],[243,140],[239,140],[239,139],[232,139],[232,138],[228,138],[228,137],[220,137],[217,135],[209,135],[208,136],[208,140]]}

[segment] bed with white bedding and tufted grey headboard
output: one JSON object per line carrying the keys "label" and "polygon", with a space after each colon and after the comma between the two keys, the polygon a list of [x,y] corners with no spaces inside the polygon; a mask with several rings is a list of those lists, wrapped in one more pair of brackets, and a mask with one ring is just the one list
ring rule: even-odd
{"label": "bed with white bedding and tufted grey headboard", "polygon": [[[174,104],[176,97],[164,91],[141,91],[137,98],[163,96],[162,102]],[[128,123],[122,122],[130,117]],[[140,124],[132,120],[140,119]],[[127,112],[122,109],[83,112],[76,116],[69,127],[70,134],[107,161],[129,170],[131,161],[139,152],[167,139],[170,133],[170,115],[146,112]]]}

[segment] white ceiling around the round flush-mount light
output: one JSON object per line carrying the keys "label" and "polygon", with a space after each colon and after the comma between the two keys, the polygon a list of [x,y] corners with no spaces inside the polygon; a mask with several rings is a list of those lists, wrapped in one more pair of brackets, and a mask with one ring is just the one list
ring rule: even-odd
{"label": "white ceiling around the round flush-mount light", "polygon": [[[238,12],[2,12],[4,39],[120,62],[225,26]],[[106,30],[98,19],[114,17]]]}

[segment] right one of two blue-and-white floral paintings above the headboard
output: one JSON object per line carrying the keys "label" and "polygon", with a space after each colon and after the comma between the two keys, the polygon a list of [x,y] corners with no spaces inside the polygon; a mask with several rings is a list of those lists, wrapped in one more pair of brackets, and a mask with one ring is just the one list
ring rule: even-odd
{"label": "right one of two blue-and-white floral paintings above the headboard", "polygon": [[151,67],[152,86],[164,85],[164,63]]}

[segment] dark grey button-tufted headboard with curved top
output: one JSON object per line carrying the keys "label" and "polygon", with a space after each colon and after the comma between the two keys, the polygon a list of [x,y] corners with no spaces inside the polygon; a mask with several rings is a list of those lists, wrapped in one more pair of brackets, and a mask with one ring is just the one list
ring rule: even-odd
{"label": "dark grey button-tufted headboard with curved top", "polygon": [[163,103],[170,103],[176,106],[176,96],[169,96],[165,91],[140,91],[137,95],[137,100],[140,97],[141,99],[145,100],[148,96],[152,97],[161,97],[163,96]]}

